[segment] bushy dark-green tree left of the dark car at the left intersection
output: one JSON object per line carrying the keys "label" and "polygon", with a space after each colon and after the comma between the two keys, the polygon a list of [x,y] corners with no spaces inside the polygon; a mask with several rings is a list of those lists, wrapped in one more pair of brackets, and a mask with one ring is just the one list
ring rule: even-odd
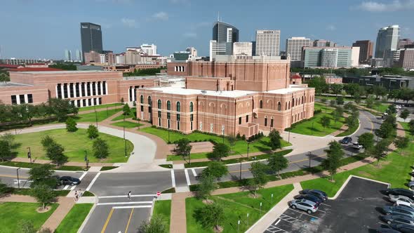
{"label": "bushy dark-green tree left of the dark car at the left intersection", "polygon": [[41,164],[30,169],[29,180],[32,181],[30,187],[48,185],[48,187],[55,188],[58,186],[58,179],[53,176],[55,172],[52,168],[53,166],[51,164]]}

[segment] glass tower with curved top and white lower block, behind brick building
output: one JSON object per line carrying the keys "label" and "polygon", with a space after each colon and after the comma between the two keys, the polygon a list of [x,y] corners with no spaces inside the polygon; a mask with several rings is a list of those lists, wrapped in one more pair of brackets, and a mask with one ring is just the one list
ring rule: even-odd
{"label": "glass tower with curved top and white lower block, behind brick building", "polygon": [[210,41],[210,60],[215,55],[232,55],[234,42],[239,42],[239,29],[225,22],[215,22]]}

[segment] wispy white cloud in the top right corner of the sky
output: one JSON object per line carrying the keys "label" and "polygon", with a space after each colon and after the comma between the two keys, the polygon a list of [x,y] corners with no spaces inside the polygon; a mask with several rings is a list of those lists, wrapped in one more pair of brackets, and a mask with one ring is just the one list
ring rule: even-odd
{"label": "wispy white cloud in the top right corner of the sky", "polygon": [[403,11],[414,9],[414,0],[394,0],[387,3],[378,1],[363,1],[358,6],[354,7],[361,11],[370,12],[384,12],[384,11]]}

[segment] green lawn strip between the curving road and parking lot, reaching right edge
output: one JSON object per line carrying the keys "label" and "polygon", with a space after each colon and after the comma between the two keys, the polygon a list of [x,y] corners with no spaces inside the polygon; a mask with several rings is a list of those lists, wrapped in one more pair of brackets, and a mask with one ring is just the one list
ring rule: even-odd
{"label": "green lawn strip between the curving road and parking lot, reaching right edge", "polygon": [[[406,128],[407,125],[403,124]],[[406,132],[408,134],[408,132]],[[407,135],[410,140],[413,140],[412,135]],[[406,183],[410,180],[410,173],[414,164],[414,144],[410,143],[408,148],[404,150],[404,155],[401,156],[398,152],[392,152],[386,159],[377,163],[368,164],[355,168],[351,171],[345,171],[334,175],[335,182],[330,182],[328,178],[318,178],[315,180],[307,180],[301,182],[303,189],[321,189],[325,191],[329,197],[335,196],[338,189],[347,180],[349,175],[358,175],[373,180],[380,180],[388,182],[391,187],[407,188]]]}

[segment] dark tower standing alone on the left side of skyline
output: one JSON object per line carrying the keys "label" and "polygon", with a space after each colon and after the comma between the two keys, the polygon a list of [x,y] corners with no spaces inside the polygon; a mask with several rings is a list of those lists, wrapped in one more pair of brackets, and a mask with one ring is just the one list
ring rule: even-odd
{"label": "dark tower standing alone on the left side of skyline", "polygon": [[91,22],[81,22],[81,45],[83,60],[85,60],[85,53],[90,51],[102,53],[102,31],[100,25],[95,25]]}

